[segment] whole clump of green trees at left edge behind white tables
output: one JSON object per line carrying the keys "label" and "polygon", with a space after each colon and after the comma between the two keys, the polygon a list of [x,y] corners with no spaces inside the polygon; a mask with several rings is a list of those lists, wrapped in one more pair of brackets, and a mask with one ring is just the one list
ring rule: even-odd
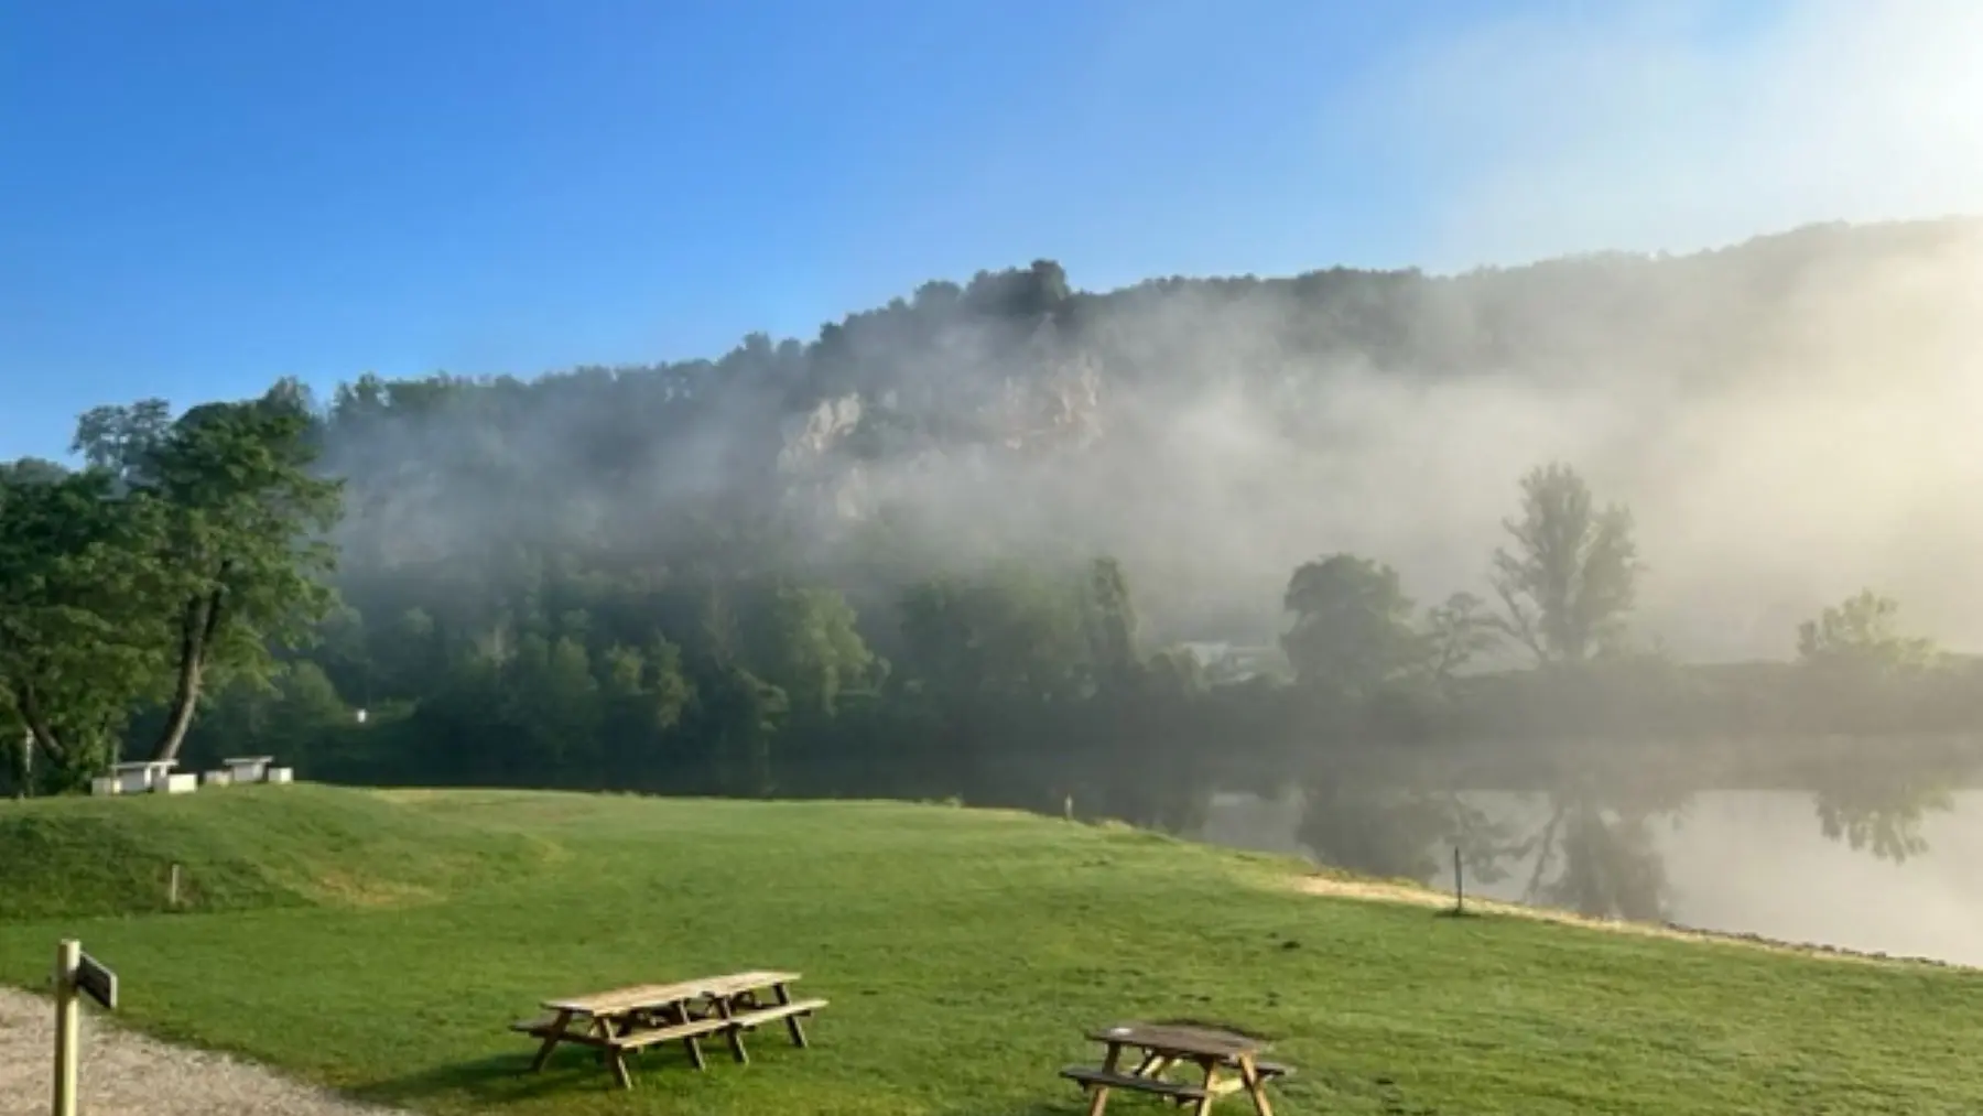
{"label": "whole clump of green trees at left edge behind white tables", "polygon": [[165,700],[149,751],[169,759],[208,684],[274,678],[329,614],[339,505],[293,383],[176,420],[163,400],[97,408],[75,448],[79,474],[0,476],[0,692],[65,787],[143,702]]}

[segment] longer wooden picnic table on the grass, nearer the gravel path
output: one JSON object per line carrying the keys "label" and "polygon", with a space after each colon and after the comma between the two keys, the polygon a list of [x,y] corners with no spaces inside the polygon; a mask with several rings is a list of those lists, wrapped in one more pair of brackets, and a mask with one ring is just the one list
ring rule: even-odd
{"label": "longer wooden picnic table on the grass, nearer the gravel path", "polygon": [[700,1070],[706,1068],[702,1039],[722,1035],[730,1041],[730,1055],[748,1062],[744,1033],[783,1019],[791,1043],[805,1047],[799,1019],[827,1001],[793,999],[789,985],[797,979],[799,973],[752,971],[549,999],[541,1005],[551,1013],[547,1019],[514,1023],[510,1029],[543,1039],[529,1064],[531,1072],[543,1068],[559,1043],[577,1043],[597,1049],[621,1088],[633,1088],[627,1055],[662,1043],[682,1043],[688,1060]]}

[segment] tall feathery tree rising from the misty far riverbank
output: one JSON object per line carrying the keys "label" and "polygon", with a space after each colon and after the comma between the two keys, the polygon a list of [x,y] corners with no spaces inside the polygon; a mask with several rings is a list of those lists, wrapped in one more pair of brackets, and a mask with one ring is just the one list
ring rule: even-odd
{"label": "tall feathery tree rising from the misty far riverbank", "polygon": [[1521,478],[1521,517],[1501,527],[1515,539],[1493,553],[1501,628],[1541,664],[1584,662],[1614,644],[1638,593],[1632,511],[1596,507],[1576,470],[1549,464]]}

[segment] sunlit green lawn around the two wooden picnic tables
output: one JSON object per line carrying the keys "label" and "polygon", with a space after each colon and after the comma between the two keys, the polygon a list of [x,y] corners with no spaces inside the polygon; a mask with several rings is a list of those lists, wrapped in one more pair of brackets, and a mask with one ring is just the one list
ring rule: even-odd
{"label": "sunlit green lawn around the two wooden picnic tables", "polygon": [[[1303,1070],[1281,1090],[1293,1114],[1983,1110],[1983,975],[1965,971],[1321,900],[1279,862],[992,813],[262,795],[286,793],[486,848],[502,878],[450,870],[397,904],[331,888],[319,906],[8,922],[0,979],[40,983],[73,932],[155,1033],[436,1112],[1081,1112],[1055,1070],[1118,1017],[1275,1035]],[[178,821],[204,811],[238,846],[248,821],[222,815],[248,799],[194,799]],[[36,809],[105,807],[147,803]],[[520,840],[555,854],[518,860]],[[0,888],[20,878],[0,862]],[[833,999],[813,1051],[765,1031],[752,1066],[706,1074],[648,1053],[621,1094],[583,1053],[525,1074],[527,1043],[504,1033],[547,995],[758,965]]]}

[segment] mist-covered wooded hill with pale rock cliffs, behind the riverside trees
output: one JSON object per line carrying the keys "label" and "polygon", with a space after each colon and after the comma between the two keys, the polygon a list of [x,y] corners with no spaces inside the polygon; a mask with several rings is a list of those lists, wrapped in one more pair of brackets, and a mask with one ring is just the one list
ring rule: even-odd
{"label": "mist-covered wooded hill with pale rock cliffs, behind the riverside trees", "polygon": [[1977,351],[1975,246],[1969,222],[1818,226],[1108,293],[1039,262],[716,361],[361,377],[331,400],[327,464],[353,482],[353,577],[458,581],[553,545],[801,567],[871,605],[932,567],[1107,553],[1154,636],[1273,642],[1287,571],[1317,553],[1370,553],[1428,597],[1481,589],[1515,478],[1561,458],[1632,505],[1642,626],[1686,656],[1785,656],[1860,585],[1971,642],[1959,571],[1983,529],[1935,507],[1924,531],[1957,478],[1884,438],[1906,430],[1914,460],[1967,438],[1949,394]]}

